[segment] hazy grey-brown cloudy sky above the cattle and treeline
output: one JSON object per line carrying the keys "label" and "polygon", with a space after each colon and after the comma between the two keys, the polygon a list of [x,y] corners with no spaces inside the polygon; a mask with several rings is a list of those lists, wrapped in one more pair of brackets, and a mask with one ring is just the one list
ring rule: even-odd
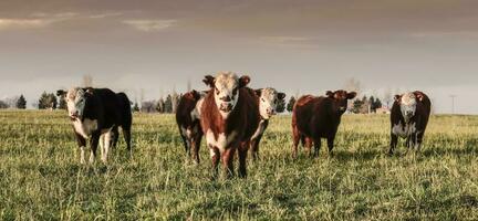
{"label": "hazy grey-brown cloudy sky above the cattle and treeline", "polygon": [[[0,98],[82,84],[156,99],[232,71],[254,88],[424,91],[478,114],[475,0],[2,0]],[[142,93],[143,91],[143,93]]]}

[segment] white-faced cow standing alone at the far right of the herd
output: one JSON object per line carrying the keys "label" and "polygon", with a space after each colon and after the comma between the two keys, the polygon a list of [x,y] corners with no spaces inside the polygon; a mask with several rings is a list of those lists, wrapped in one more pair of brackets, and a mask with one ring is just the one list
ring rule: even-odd
{"label": "white-faced cow standing alone at the far right of the herd", "polygon": [[430,115],[432,103],[426,94],[419,91],[395,95],[391,110],[391,147],[393,155],[398,136],[406,138],[408,149],[419,150]]}

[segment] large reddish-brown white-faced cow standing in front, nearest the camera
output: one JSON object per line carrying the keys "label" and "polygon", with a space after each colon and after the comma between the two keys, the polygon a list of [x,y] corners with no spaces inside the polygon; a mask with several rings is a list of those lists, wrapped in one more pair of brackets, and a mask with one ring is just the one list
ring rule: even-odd
{"label": "large reddish-brown white-faced cow standing in front, nearest the camera", "polygon": [[200,123],[212,159],[212,178],[217,178],[219,160],[228,177],[233,176],[232,159],[239,155],[239,176],[246,177],[246,158],[250,138],[259,125],[259,107],[254,93],[246,85],[250,77],[232,72],[205,76],[210,87],[200,107]]}

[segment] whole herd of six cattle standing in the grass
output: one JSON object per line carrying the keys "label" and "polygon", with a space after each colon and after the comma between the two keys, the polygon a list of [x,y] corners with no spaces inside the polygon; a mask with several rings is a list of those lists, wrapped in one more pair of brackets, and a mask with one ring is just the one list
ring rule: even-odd
{"label": "whole herd of six cattle standing in the grass", "polygon": [[[267,87],[251,90],[249,76],[238,77],[231,72],[207,75],[202,81],[208,91],[191,91],[179,101],[176,122],[188,157],[199,164],[199,147],[202,136],[212,159],[212,175],[217,177],[222,161],[228,177],[233,176],[233,157],[239,158],[239,176],[246,177],[246,158],[251,151],[253,159],[259,154],[259,143],[276,114],[277,104],[285,94]],[[100,144],[102,160],[106,161],[110,148],[118,139],[122,127],[127,149],[131,150],[132,113],[129,99],[124,93],[107,88],[80,88],[58,91],[66,99],[69,117],[73,124],[81,162],[85,162],[86,141],[90,140],[90,161],[93,162]],[[334,138],[341,116],[347,109],[347,101],[355,92],[328,91],[325,96],[304,95],[292,112],[293,157],[297,157],[301,141],[309,154],[314,146],[318,156],[321,138],[325,138],[329,155],[332,155]],[[395,96],[391,112],[392,155],[398,136],[406,138],[407,147],[419,150],[430,114],[430,101],[423,92],[408,92]]]}

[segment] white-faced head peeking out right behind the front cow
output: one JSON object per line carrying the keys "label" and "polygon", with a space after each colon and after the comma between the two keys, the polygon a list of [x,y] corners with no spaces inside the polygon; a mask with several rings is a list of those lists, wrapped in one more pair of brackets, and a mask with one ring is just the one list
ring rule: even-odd
{"label": "white-faced head peeking out right behind the front cow", "polygon": [[285,98],[284,93],[277,92],[271,87],[256,90],[256,94],[259,96],[259,113],[264,119],[276,115],[279,102]]}

